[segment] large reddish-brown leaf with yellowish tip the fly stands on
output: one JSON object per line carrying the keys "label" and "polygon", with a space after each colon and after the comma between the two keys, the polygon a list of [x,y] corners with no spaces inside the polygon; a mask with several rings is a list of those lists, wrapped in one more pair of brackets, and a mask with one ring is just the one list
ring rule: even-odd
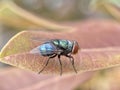
{"label": "large reddish-brown leaf with yellowish tip the fly stands on", "polygon": [[[78,41],[81,50],[74,55],[78,72],[93,71],[120,64],[120,26],[113,21],[85,21],[73,25],[77,28],[70,32],[36,32],[24,31],[13,37],[1,52],[1,61],[29,69],[35,72],[41,70],[47,57],[30,54],[30,50],[39,46],[43,41],[38,39],[68,39]],[[71,63],[62,57],[63,72],[74,72]],[[57,58],[51,60],[45,73],[59,73]]]}

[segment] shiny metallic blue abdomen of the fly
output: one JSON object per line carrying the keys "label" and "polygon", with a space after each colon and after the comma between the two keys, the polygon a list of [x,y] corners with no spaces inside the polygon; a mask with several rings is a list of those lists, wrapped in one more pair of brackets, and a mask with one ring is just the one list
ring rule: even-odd
{"label": "shiny metallic blue abdomen of the fly", "polygon": [[50,56],[55,54],[56,48],[51,43],[45,43],[39,47],[40,53],[43,56]]}

